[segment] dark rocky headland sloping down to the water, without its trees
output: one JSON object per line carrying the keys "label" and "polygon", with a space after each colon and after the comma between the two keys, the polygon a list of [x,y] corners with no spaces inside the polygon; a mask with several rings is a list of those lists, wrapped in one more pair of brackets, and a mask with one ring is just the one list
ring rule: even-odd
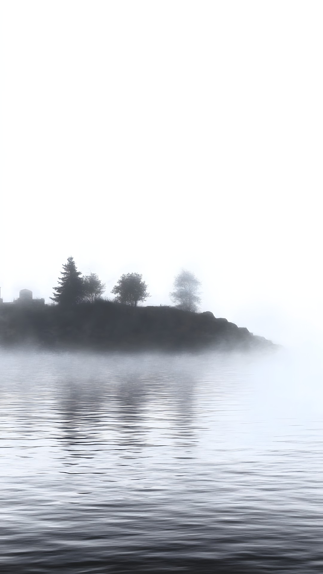
{"label": "dark rocky headland sloping down to the water, without its trees", "polygon": [[110,301],[63,307],[0,308],[0,344],[98,350],[221,348],[274,350],[279,346],[213,313],[175,307],[130,307]]}

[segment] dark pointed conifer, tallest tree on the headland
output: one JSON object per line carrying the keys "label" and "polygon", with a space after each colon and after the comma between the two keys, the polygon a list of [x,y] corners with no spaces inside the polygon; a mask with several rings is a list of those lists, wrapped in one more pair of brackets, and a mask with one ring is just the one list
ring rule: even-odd
{"label": "dark pointed conifer, tallest tree on the headland", "polygon": [[52,301],[64,305],[74,305],[82,301],[83,281],[80,274],[81,272],[76,269],[74,259],[68,257],[61,271],[63,277],[58,280],[60,285],[53,287],[53,297],[50,297]]}

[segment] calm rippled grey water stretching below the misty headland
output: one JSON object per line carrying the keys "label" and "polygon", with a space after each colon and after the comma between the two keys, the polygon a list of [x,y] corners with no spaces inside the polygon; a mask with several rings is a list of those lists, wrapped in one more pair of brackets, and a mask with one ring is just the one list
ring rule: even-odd
{"label": "calm rippled grey water stretching below the misty headland", "polygon": [[322,372],[0,352],[1,572],[323,572]]}

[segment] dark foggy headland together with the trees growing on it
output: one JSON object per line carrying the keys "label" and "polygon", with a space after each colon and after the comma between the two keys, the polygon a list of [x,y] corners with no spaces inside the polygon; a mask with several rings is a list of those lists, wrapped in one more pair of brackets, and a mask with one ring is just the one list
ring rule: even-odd
{"label": "dark foggy headland together with the trees growing on it", "polygon": [[139,307],[149,297],[147,285],[140,274],[129,273],[114,286],[114,300],[103,300],[105,285],[96,274],[81,277],[70,257],[54,288],[55,304],[1,305],[0,344],[99,350],[275,347],[211,312],[198,313],[198,288],[197,278],[183,271],[171,293],[175,307]]}

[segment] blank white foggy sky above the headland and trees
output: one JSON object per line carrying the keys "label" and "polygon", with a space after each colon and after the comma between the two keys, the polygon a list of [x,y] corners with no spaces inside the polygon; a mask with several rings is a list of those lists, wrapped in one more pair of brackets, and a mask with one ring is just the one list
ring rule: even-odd
{"label": "blank white foggy sky above the headland and trees", "polygon": [[[323,322],[323,4],[1,2],[0,286],[48,300],[73,255],[107,295],[279,340]],[[284,335],[281,335],[284,339]]]}

